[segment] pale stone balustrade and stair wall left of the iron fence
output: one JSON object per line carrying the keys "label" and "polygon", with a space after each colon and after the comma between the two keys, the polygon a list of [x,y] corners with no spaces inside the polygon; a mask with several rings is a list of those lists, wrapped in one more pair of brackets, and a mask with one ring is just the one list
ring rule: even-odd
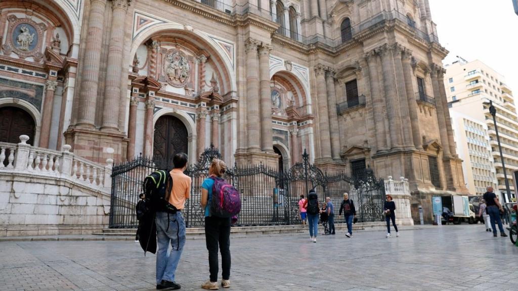
{"label": "pale stone balustrade and stair wall left of the iron fence", "polygon": [[108,224],[112,159],[0,142],[0,237],[91,234]]}

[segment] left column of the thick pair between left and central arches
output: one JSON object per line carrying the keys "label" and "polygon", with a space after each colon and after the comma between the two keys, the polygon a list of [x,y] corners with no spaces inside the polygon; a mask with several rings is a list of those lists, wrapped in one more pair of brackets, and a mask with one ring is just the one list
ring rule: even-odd
{"label": "left column of the thick pair between left and central arches", "polygon": [[82,67],[81,93],[77,125],[95,127],[100,50],[103,44],[103,24],[106,0],[90,0],[87,41]]}

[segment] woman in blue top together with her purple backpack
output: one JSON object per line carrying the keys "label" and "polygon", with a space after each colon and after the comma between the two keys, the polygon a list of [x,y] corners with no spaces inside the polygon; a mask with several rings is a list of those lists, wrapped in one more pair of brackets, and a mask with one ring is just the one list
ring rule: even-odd
{"label": "woman in blue top together with her purple backpack", "polygon": [[221,251],[223,288],[230,287],[230,227],[231,217],[241,210],[239,192],[223,178],[225,162],[214,158],[209,167],[209,178],[202,184],[202,209],[205,209],[205,240],[209,251],[209,281],[202,284],[203,289],[218,289],[218,245]]}

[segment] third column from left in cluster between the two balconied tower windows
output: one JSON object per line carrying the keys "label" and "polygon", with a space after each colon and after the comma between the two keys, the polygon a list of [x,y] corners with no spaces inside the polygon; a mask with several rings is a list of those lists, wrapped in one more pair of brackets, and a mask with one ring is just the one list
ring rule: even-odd
{"label": "third column from left in cluster between the two balconied tower windows", "polygon": [[410,112],[408,110],[408,96],[405,85],[405,77],[403,74],[403,64],[401,61],[402,47],[398,44],[394,45],[392,53],[394,55],[394,64],[396,71],[396,87],[399,97],[399,114],[401,116],[401,125],[403,130],[403,144],[405,148],[413,148],[412,126],[410,124]]}

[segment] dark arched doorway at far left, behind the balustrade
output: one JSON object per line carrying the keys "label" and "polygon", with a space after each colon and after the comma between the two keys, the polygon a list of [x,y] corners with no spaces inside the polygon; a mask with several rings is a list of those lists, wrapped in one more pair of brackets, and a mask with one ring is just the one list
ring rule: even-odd
{"label": "dark arched doorway at far left, behind the balustrade", "polygon": [[0,142],[19,143],[27,135],[28,144],[34,145],[36,125],[27,111],[13,106],[0,107]]}

